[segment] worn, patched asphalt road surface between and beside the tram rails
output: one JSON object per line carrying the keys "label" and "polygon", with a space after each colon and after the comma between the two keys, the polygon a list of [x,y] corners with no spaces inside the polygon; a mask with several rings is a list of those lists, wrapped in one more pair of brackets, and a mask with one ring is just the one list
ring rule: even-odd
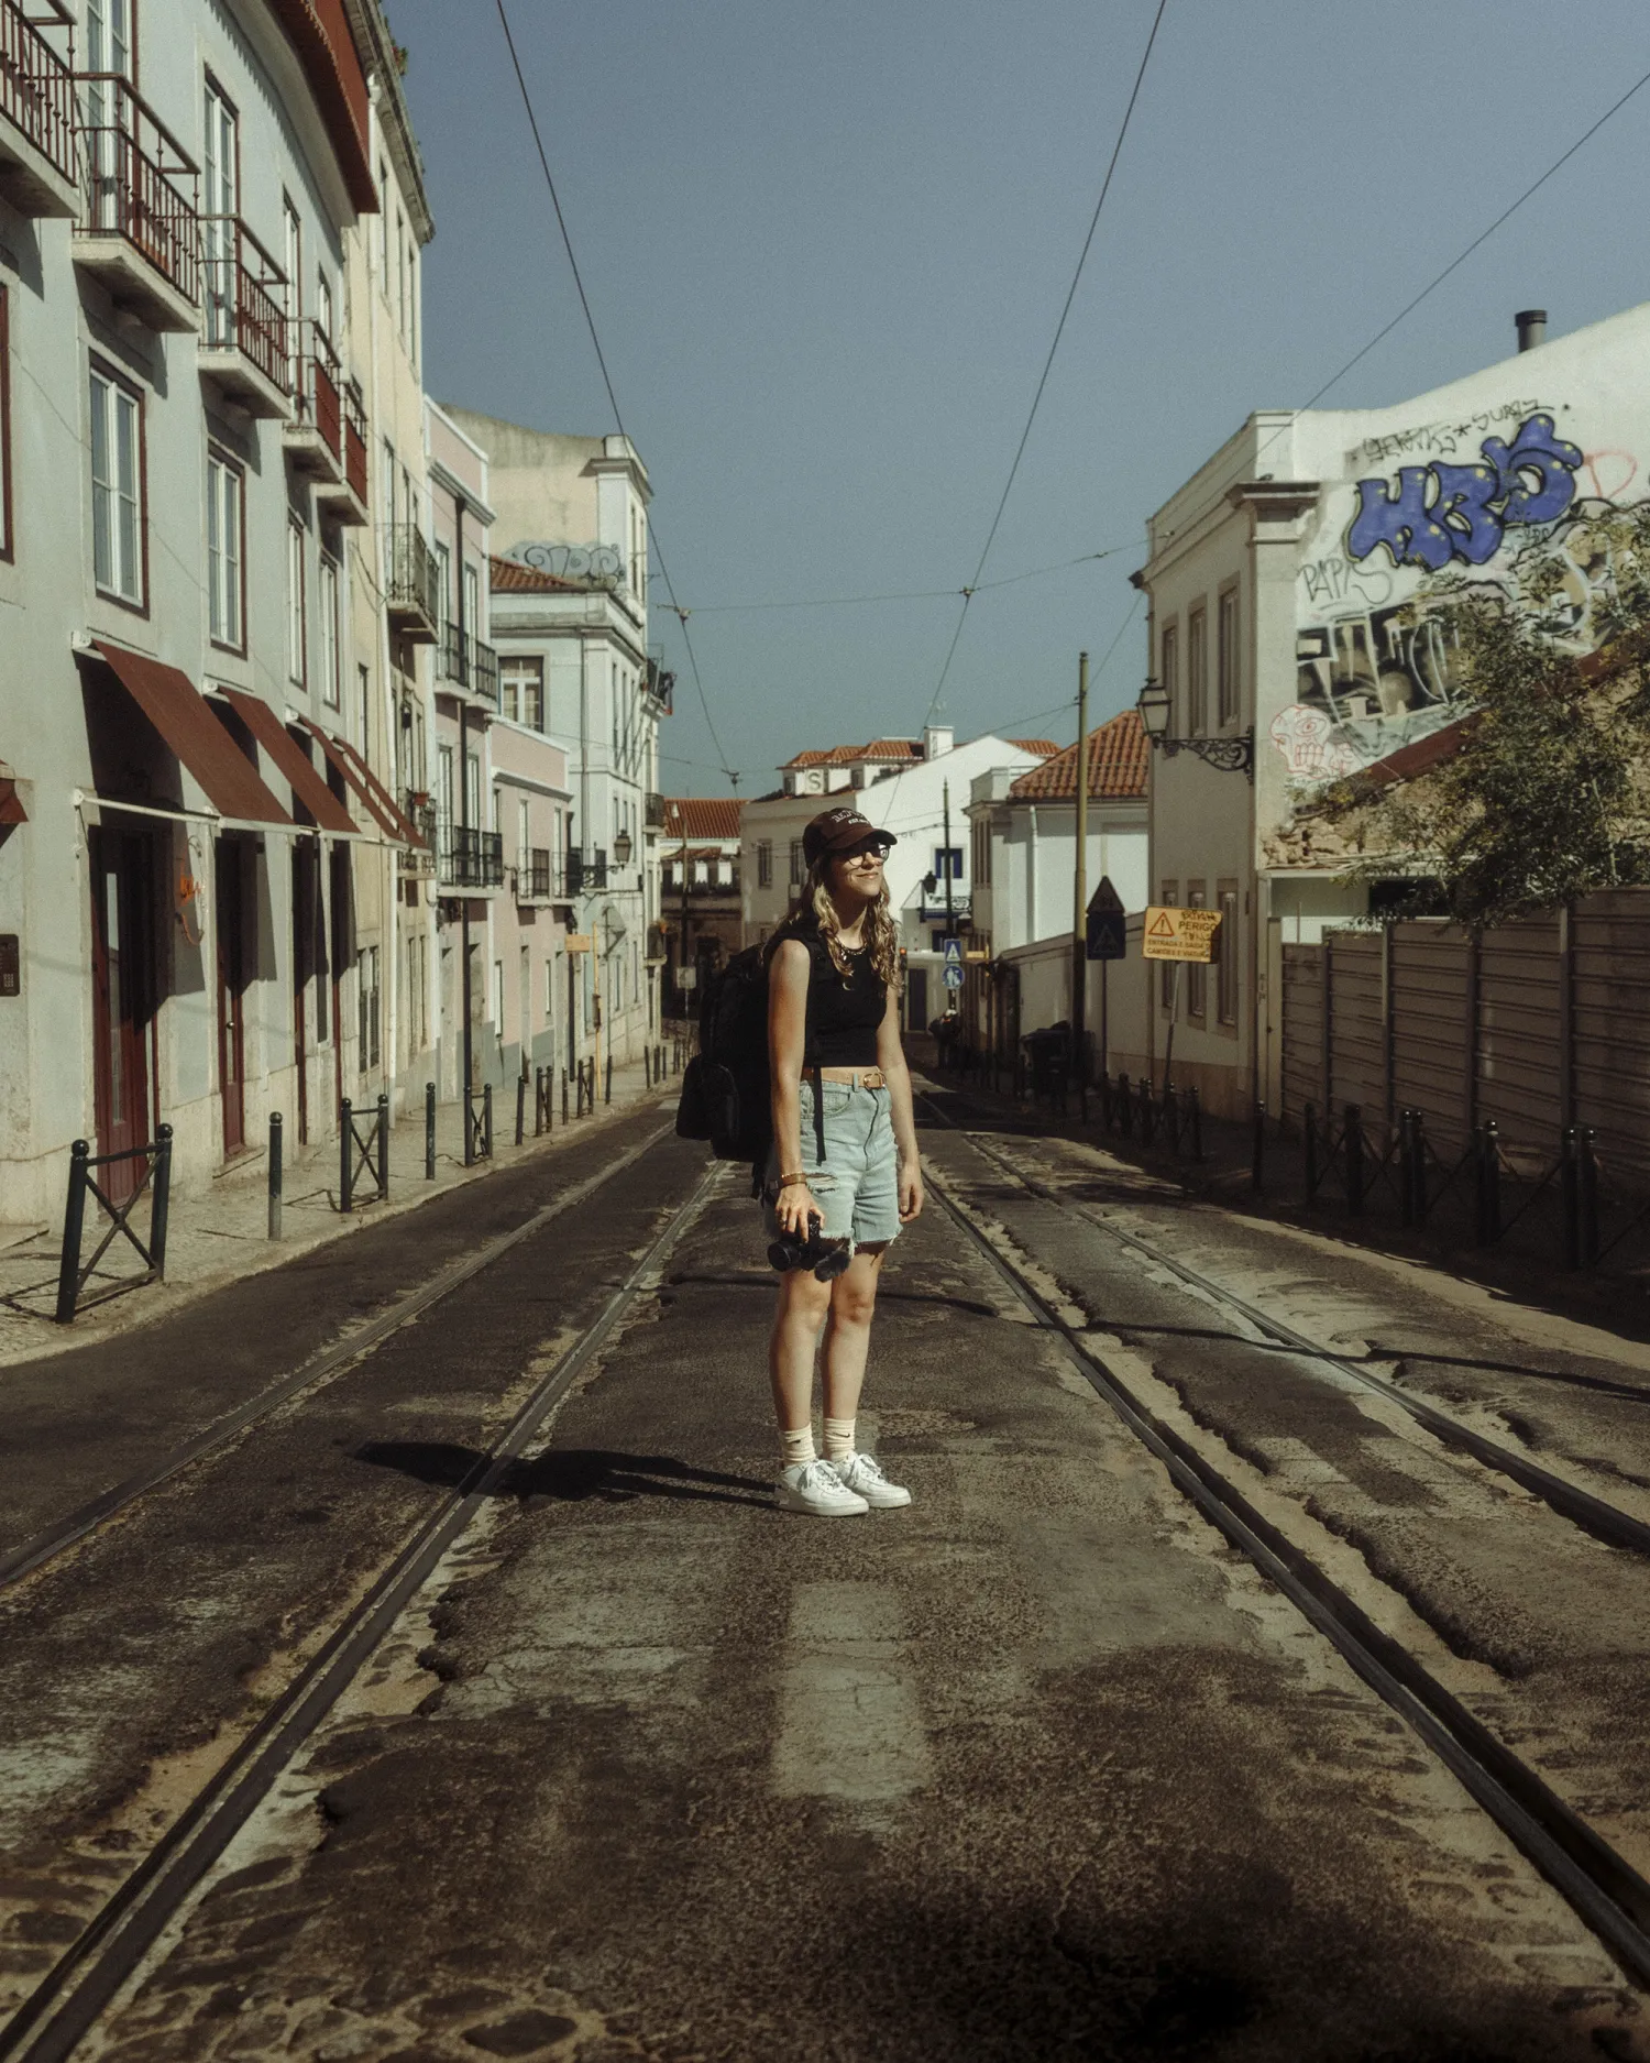
{"label": "worn, patched asphalt road surface between and beside the tram rails", "polygon": [[[598,1174],[658,1112],[625,1122],[588,1164],[497,1178],[485,1223],[446,1199],[344,1242],[355,1258],[311,1258],[285,1306],[291,1271],[260,1277],[262,1322],[219,1308],[217,1370],[202,1306],[126,1376],[89,1360],[56,1413],[66,1364],[19,1372],[0,1423],[27,1436],[27,1485],[0,1547]],[[1089,1149],[994,1147],[1339,1351],[1642,1494],[1650,1370],[1188,1207]],[[924,1149],[1083,1337],[1646,1867],[1650,1564],[1279,1355],[965,1135],[928,1126]],[[707,1194],[701,1176],[697,1149],[650,1147],[0,1595],[6,2009],[666,1232],[549,1434],[497,1473],[76,2055],[1650,2053],[1596,1935],[938,1203],[891,1256],[862,1417],[916,1504],[776,1512],[773,1275],[742,1174]]]}

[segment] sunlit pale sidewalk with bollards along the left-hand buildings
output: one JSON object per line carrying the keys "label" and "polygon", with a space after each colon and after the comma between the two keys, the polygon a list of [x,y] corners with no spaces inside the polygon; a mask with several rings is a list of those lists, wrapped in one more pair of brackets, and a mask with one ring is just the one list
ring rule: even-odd
{"label": "sunlit pale sidewalk with bollards along the left-hand buildings", "polygon": [[[382,1223],[386,1217],[410,1211],[431,1197],[462,1188],[466,1182],[481,1182],[495,1170],[514,1168],[532,1155],[551,1155],[650,1098],[658,1100],[664,1120],[674,1110],[679,1087],[681,1075],[666,1075],[654,1089],[646,1083],[641,1062],[615,1067],[610,1104],[598,1102],[594,1114],[569,1118],[563,1126],[557,1102],[551,1131],[534,1139],[532,1085],[528,1085],[520,1147],[514,1143],[516,1093],[514,1087],[505,1087],[493,1093],[493,1159],[476,1161],[472,1168],[464,1166],[462,1106],[456,1102],[437,1104],[435,1180],[425,1178],[425,1112],[423,1102],[419,1102],[390,1128],[388,1201],[357,1203],[349,1215],[338,1211],[338,1141],[322,1141],[303,1153],[295,1153],[289,1141],[278,1240],[268,1238],[268,1153],[258,1149],[235,1161],[204,1190],[192,1188],[182,1197],[173,1194],[165,1281],[111,1296],[105,1304],[91,1302],[91,1308],[85,1308],[85,1302],[95,1300],[99,1291],[140,1273],[136,1252],[116,1234],[95,1273],[87,1279],[82,1310],[72,1324],[58,1324],[54,1318],[62,1221],[37,1230],[14,1227],[12,1242],[0,1244],[0,1368],[37,1360],[43,1353],[85,1347],[138,1324],[153,1324],[182,1304],[241,1275],[278,1267],[295,1254],[338,1240],[363,1225]],[[66,1184],[68,1155],[64,1155]],[[359,1186],[371,1192],[373,1184],[361,1178]],[[89,1197],[80,1242],[82,1267],[97,1252],[107,1230],[107,1213]],[[138,1205],[134,1230],[138,1238],[148,1236],[148,1199]]]}

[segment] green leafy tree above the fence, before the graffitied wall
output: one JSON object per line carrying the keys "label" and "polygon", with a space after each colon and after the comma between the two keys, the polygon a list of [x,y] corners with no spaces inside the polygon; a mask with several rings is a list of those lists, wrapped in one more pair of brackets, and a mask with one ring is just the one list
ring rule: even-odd
{"label": "green leafy tree above the fence, before the graffitied wall", "polygon": [[[1417,875],[1411,908],[1473,928],[1592,889],[1650,883],[1650,505],[1607,512],[1530,553],[1512,594],[1440,576],[1415,613],[1448,609],[1475,703],[1448,759],[1324,798],[1353,836],[1353,879]],[[1578,648],[1578,563],[1592,576]],[[1402,912],[1398,912],[1402,914]]]}

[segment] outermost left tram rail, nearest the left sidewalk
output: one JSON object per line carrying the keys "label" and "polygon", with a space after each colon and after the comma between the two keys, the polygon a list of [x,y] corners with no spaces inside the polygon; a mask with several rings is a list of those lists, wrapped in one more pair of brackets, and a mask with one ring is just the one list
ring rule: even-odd
{"label": "outermost left tram rail, nearest the left sidewalk", "polygon": [[613,1182],[615,1176],[635,1166],[635,1161],[650,1153],[668,1135],[668,1124],[656,1126],[646,1139],[627,1147],[606,1168],[586,1176],[582,1182],[573,1182],[569,1188],[561,1190],[561,1194],[553,1197],[547,1205],[526,1217],[520,1225],[512,1225],[509,1232],[497,1234],[493,1240],[474,1248],[474,1252],[468,1252],[450,1267],[441,1269],[429,1281],[419,1283],[417,1289],[396,1298],[365,1324],[346,1333],[322,1353],[311,1355],[289,1374],[278,1376],[254,1397],[248,1397],[245,1403],[237,1405],[233,1411],[227,1411],[208,1426],[202,1426],[200,1432],[192,1434],[188,1440],[179,1440],[144,1469],[134,1471],[109,1489],[99,1492],[99,1496],[89,1498],[85,1504],[78,1504],[74,1510],[52,1520],[50,1527],[41,1527],[29,1539],[8,1547],[0,1553],[0,1593],[23,1582],[27,1576],[33,1576],[37,1570],[47,1568],[60,1556],[68,1553],[70,1547],[76,1547],[80,1541],[99,1533],[116,1518],[122,1518],[136,1504],[140,1504],[142,1498],[161,1489],[173,1477],[194,1467],[194,1463],[204,1461],[208,1454],[227,1446],[260,1419],[266,1419],[272,1411],[293,1403],[293,1399],[301,1397],[305,1390],[320,1388],[334,1376],[342,1374],[342,1370],[346,1370],[353,1362],[373,1353],[404,1324],[410,1324],[433,1306],[446,1302],[446,1298],[450,1298],[456,1289],[462,1289],[464,1283],[474,1281],[476,1275],[501,1260],[512,1248],[530,1240],[536,1232],[542,1232],[544,1225],[561,1217],[563,1211],[571,1211],[575,1205],[594,1197],[600,1188]]}

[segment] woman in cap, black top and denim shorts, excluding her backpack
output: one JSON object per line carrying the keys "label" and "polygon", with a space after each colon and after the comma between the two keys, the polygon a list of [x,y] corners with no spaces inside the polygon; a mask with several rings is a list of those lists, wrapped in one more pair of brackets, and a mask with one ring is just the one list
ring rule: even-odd
{"label": "woman in cap, black top and denim shorts, excluding her backpack", "polygon": [[[782,1510],[819,1518],[910,1504],[854,1444],[883,1254],[922,1209],[912,1077],[899,1044],[899,951],[883,860],[893,846],[856,809],[802,831],[808,877],[767,945],[773,1151],[769,1230],[852,1240],[835,1281],[780,1277],[769,1374]],[[813,1444],[813,1366],[825,1327],[825,1452]]]}

